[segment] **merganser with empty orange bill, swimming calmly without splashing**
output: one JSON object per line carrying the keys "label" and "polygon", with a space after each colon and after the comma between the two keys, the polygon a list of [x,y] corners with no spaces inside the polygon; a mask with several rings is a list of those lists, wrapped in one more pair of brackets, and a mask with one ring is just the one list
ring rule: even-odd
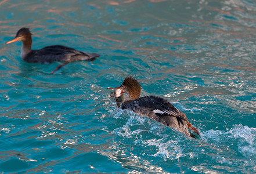
{"label": "merganser with empty orange bill, swimming calmly without splashing", "polygon": [[73,48],[69,48],[67,46],[62,45],[52,45],[46,46],[45,48],[33,50],[31,49],[32,45],[32,37],[29,28],[21,28],[16,37],[12,40],[6,42],[6,44],[10,44],[12,42],[21,41],[21,57],[24,61],[29,63],[52,63],[53,61],[64,61],[65,63],[60,64],[60,66],[56,67],[55,70],[52,71],[51,74],[55,73],[55,71],[62,68],[64,65],[70,63],[71,61],[85,60],[92,61],[95,60],[96,57],[99,57],[98,54],[86,54],[84,52],[80,52],[79,50],[75,50]]}

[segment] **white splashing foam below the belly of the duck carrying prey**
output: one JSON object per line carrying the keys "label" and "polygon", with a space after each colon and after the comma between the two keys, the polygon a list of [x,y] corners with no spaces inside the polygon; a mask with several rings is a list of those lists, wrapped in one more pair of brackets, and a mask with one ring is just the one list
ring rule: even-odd
{"label": "white splashing foam below the belly of the duck carrying prey", "polygon": [[[116,112],[114,112],[116,113]],[[148,153],[149,156],[154,157],[162,157],[165,161],[167,159],[171,160],[179,160],[181,157],[188,156],[190,158],[196,157],[196,153],[193,152],[183,152],[183,145],[179,147],[180,140],[170,140],[170,135],[167,135],[165,132],[166,130],[169,131],[169,128],[161,125],[158,122],[153,122],[151,119],[146,117],[141,117],[139,115],[134,114],[132,111],[124,110],[122,114],[118,114],[119,116],[116,117],[117,119],[125,118],[125,114],[129,115],[128,120],[124,126],[121,128],[116,128],[113,130],[113,134],[118,136],[131,138],[134,140],[135,144],[140,144],[140,146],[155,146],[156,151],[153,153]],[[127,117],[126,117],[127,118]],[[145,122],[146,121],[146,122]],[[147,129],[147,125],[145,125],[145,129],[136,128],[136,130],[132,130],[134,126],[144,125],[145,123],[150,124],[150,129]],[[148,137],[143,137],[145,134],[143,132],[151,132],[154,136],[160,137],[160,139],[145,139]],[[175,137],[175,136],[172,136]],[[178,139],[186,139],[186,137],[180,136],[177,132]],[[182,141],[181,140],[181,141]]]}

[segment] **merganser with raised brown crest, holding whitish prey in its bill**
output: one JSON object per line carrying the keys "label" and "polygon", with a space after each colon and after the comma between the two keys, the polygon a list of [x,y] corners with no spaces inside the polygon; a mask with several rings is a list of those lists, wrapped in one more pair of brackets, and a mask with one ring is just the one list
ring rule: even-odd
{"label": "merganser with raised brown crest, holding whitish prey in its bill", "polygon": [[157,96],[139,97],[141,87],[135,78],[127,77],[121,86],[108,89],[116,89],[114,96],[116,97],[117,106],[122,110],[134,111],[135,114],[161,122],[187,136],[196,138],[195,135],[189,132],[189,129],[199,135],[199,131],[189,123],[186,115],[167,100]]}

